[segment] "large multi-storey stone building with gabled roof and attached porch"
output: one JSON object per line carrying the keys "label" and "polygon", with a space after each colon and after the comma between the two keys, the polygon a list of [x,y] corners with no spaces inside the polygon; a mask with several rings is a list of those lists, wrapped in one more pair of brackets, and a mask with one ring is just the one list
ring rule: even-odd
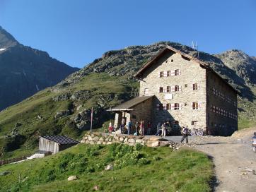
{"label": "large multi-storey stone building with gabled roof and attached porch", "polygon": [[125,121],[170,121],[173,128],[202,128],[228,136],[238,129],[237,94],[209,64],[166,47],[135,75],[139,97],[110,109],[115,126]]}

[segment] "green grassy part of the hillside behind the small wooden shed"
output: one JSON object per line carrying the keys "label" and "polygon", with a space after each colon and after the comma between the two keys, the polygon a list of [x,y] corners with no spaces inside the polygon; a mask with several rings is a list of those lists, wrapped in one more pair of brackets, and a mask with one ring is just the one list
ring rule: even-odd
{"label": "green grassy part of the hillside behind the small wooden shed", "polygon": [[[120,104],[127,100],[127,95],[137,83],[129,82],[126,77],[112,77],[105,73],[93,73],[72,86],[66,86],[59,90],[47,88],[29,97],[21,103],[13,105],[0,113],[0,159],[9,157],[21,157],[29,154],[37,148],[38,137],[42,135],[67,135],[79,139],[84,131],[78,129],[71,121],[83,109],[94,107],[95,113],[100,109]],[[73,94],[86,90],[88,97],[83,100],[59,100],[52,98],[65,94]],[[111,100],[103,100],[110,97]],[[99,106],[103,103],[103,107]],[[82,109],[78,111],[77,106]],[[71,114],[55,119],[57,112],[69,109]],[[42,119],[38,118],[41,116]],[[94,127],[102,126],[102,122],[110,119],[110,115],[95,114],[98,118]],[[95,120],[96,121],[96,120]],[[21,126],[16,127],[16,124]]]}

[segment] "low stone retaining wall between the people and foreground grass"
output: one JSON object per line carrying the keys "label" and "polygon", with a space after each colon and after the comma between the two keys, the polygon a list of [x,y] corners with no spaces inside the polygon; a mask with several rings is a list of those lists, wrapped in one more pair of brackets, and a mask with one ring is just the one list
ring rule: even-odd
{"label": "low stone retaining wall between the people and foreground grass", "polygon": [[81,143],[98,144],[98,145],[110,145],[112,143],[124,143],[127,145],[146,145],[148,147],[157,147],[165,145],[173,145],[170,140],[159,138],[156,136],[144,137],[144,136],[128,136],[124,134],[109,134],[109,133],[89,133],[83,136]]}

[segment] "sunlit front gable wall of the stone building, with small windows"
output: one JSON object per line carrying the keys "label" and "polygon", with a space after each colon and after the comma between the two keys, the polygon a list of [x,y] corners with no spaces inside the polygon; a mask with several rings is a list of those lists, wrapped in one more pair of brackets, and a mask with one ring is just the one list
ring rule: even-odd
{"label": "sunlit front gable wall of the stone building, with small windows", "polygon": [[[179,126],[189,128],[206,129],[206,70],[190,59],[186,59],[180,54],[169,52],[162,56],[150,68],[144,71],[144,76],[140,80],[139,95],[156,95],[152,105],[153,126],[163,121],[178,121]],[[178,76],[173,76],[173,71],[180,70]],[[164,71],[164,77],[159,77],[159,73]],[[172,76],[167,76],[166,72],[171,71]],[[192,85],[197,83],[198,90],[192,90]],[[180,86],[180,91],[166,92],[167,86]],[[159,92],[159,88],[165,88]],[[148,89],[145,92],[145,89]],[[192,102],[198,102],[199,109],[192,109]],[[179,103],[181,108],[159,109],[159,105]],[[192,121],[197,121],[192,125]]]}

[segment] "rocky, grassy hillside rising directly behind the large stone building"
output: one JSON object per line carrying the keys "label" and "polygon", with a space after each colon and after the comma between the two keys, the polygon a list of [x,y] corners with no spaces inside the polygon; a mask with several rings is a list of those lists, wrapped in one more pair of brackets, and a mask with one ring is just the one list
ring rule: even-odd
{"label": "rocky, grassy hillside rising directly behind the large stone building", "polygon": [[[54,87],[42,90],[1,112],[0,157],[16,157],[32,152],[37,148],[38,136],[44,134],[64,134],[81,138],[90,127],[91,107],[95,109],[93,127],[102,127],[113,118],[105,109],[138,95],[139,83],[132,75],[166,44],[197,56],[197,52],[190,47],[173,42],[131,46],[106,52],[101,58],[95,59]],[[246,63],[235,71],[235,63],[231,65],[230,62],[235,52],[238,51],[215,56],[199,52],[199,59],[209,63],[216,72],[240,90],[239,127],[244,128],[255,124],[256,90],[253,81],[248,82],[240,71],[252,73],[249,67],[244,66],[254,65],[252,61],[255,60],[248,56],[251,59],[243,61],[241,54],[235,54],[237,61]]]}

